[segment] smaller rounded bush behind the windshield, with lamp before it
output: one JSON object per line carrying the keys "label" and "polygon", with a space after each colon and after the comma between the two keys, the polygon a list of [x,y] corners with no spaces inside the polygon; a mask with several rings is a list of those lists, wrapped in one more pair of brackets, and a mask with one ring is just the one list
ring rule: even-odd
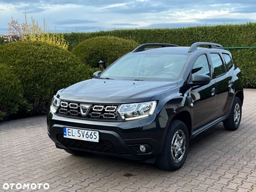
{"label": "smaller rounded bush behind the windshield, with lamp before it", "polygon": [[97,67],[97,63],[102,60],[106,63],[106,67],[115,60],[135,49],[139,44],[133,40],[125,40],[115,36],[97,36],[84,40],[78,44],[72,52],[76,54],[81,61]]}

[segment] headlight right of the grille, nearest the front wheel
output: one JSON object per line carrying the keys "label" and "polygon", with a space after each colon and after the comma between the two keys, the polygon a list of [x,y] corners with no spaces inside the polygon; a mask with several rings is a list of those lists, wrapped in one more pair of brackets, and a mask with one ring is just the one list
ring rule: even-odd
{"label": "headlight right of the grille, nearest the front wheel", "polygon": [[149,102],[122,104],[120,108],[118,108],[118,113],[124,120],[136,120],[152,115],[155,108],[156,100]]}

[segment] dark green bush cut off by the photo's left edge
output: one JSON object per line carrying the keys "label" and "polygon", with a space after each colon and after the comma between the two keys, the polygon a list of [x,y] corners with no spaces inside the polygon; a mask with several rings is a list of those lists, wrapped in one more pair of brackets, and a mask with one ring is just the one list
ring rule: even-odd
{"label": "dark green bush cut off by the photo's left edge", "polygon": [[19,110],[31,109],[23,93],[22,85],[12,68],[0,64],[0,120],[7,119]]}

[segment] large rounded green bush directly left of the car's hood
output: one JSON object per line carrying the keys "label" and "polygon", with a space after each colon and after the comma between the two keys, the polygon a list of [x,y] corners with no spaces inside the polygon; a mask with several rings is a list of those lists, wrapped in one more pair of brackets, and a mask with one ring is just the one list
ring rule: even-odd
{"label": "large rounded green bush directly left of the car's hood", "polygon": [[33,105],[33,115],[47,112],[57,90],[92,77],[92,69],[71,52],[45,42],[19,41],[0,45],[0,63],[13,68]]}

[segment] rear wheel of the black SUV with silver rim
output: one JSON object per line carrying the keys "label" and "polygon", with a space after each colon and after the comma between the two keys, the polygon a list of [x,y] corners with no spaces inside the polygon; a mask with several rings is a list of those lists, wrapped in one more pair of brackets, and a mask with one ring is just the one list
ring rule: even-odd
{"label": "rear wheel of the black SUV with silver rim", "polygon": [[235,97],[228,118],[223,121],[223,125],[228,131],[236,131],[240,125],[242,117],[242,103],[238,97]]}

